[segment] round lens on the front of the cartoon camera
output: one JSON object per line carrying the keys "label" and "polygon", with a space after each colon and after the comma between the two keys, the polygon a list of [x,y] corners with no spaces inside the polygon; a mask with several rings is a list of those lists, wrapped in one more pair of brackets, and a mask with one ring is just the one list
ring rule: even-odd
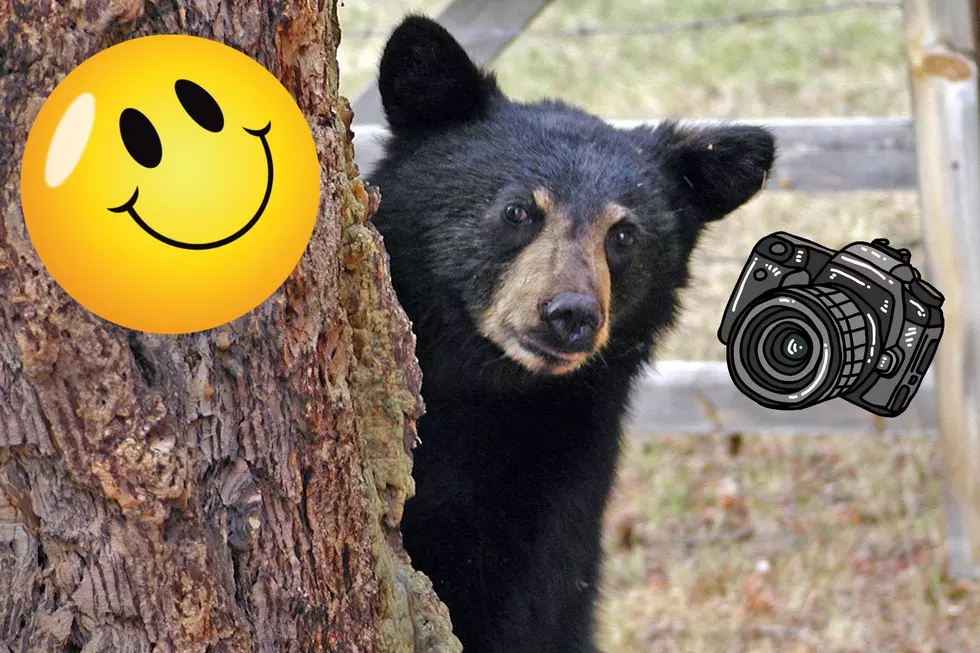
{"label": "round lens on the front of the cartoon camera", "polygon": [[772,408],[804,408],[863,380],[880,346],[873,311],[840,288],[777,289],[746,308],[732,330],[735,384]]}

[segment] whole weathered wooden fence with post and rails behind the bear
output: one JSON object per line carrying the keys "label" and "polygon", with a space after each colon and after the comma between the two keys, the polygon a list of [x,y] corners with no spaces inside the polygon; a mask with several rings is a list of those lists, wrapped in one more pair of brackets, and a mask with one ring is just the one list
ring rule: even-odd
{"label": "whole weathered wooden fence with post and rails behind the bear", "polygon": [[[438,20],[489,63],[549,0],[455,0]],[[767,410],[744,397],[724,363],[664,361],[637,384],[627,431],[938,436],[946,465],[950,572],[980,577],[980,94],[977,4],[905,0],[913,119],[741,120],[776,134],[773,191],[918,189],[926,277],[946,295],[935,363],[912,405],[883,419],[843,400]],[[483,28],[483,29],[481,29]],[[362,174],[380,155],[384,116],[376,84],[353,103]],[[610,121],[622,127],[637,121]],[[759,234],[763,236],[765,234]],[[918,262],[921,266],[921,261]],[[739,265],[739,263],[733,263]],[[972,296],[971,292],[972,290]]]}

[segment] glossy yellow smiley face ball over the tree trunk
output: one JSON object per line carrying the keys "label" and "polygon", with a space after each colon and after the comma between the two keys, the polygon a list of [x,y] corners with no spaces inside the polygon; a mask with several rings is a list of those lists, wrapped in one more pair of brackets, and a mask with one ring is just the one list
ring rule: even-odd
{"label": "glossy yellow smiley face ball over the tree trunk", "polygon": [[296,266],[320,167],[306,119],[260,64],[208,39],[104,50],[54,89],[21,173],[51,276],[121,326],[191,333],[242,316]]}

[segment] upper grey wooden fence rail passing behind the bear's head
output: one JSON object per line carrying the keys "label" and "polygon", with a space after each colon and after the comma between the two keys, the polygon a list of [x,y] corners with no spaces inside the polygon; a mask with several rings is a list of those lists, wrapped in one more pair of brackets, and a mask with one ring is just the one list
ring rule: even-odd
{"label": "upper grey wooden fence rail passing behind the bear's head", "polygon": [[[357,164],[361,174],[370,181],[388,132],[383,125],[357,124],[356,115],[354,119]],[[683,122],[698,125],[719,121]],[[908,118],[768,118],[725,122],[763,125],[776,135],[778,155],[767,189],[837,192],[918,187],[915,130]],[[657,121],[610,120],[609,123],[631,129],[643,124],[655,125]]]}

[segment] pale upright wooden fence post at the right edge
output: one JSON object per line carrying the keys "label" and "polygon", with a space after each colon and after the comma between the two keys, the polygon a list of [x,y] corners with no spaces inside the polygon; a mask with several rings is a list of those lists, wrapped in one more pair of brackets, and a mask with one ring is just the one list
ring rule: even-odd
{"label": "pale upright wooden fence post at the right edge", "polygon": [[906,0],[923,239],[946,295],[936,362],[950,574],[980,571],[980,92],[975,0]]}

